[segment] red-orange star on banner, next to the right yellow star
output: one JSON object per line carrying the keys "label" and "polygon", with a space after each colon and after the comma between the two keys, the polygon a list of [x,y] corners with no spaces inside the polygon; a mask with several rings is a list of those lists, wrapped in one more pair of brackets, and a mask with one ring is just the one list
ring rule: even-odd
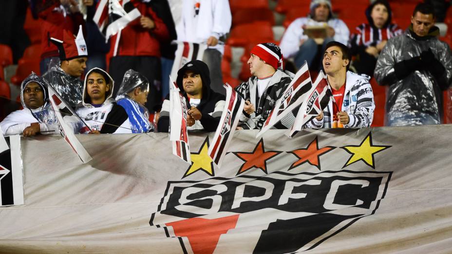
{"label": "red-orange star on banner, next to the right yellow star", "polygon": [[311,142],[311,144],[308,145],[308,147],[289,152],[293,153],[295,156],[298,157],[298,159],[300,159],[293,163],[290,166],[289,170],[298,167],[303,163],[309,163],[313,166],[316,166],[320,170],[320,155],[325,154],[334,148],[336,147],[325,146],[319,149],[319,142],[317,141],[316,136],[316,138]]}

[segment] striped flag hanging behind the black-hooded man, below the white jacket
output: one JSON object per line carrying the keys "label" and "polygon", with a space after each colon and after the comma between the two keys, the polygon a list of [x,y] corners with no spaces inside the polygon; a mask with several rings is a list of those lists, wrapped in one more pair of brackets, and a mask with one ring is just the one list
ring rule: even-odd
{"label": "striped flag hanging behind the black-hooded man, below the white jacket", "polygon": [[[191,43],[186,41],[173,41],[177,44],[177,50],[175,53],[174,64],[171,69],[171,78],[175,80],[177,78],[177,72],[186,63],[193,60],[203,60],[204,51],[207,49],[207,44]],[[171,87],[171,81],[169,86]]]}

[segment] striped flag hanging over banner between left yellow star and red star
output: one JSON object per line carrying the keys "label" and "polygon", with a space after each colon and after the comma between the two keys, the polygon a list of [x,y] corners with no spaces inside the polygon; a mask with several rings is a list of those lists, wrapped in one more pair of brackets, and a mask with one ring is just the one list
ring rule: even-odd
{"label": "striped flag hanging over banner between left yellow star and red star", "polygon": [[223,109],[220,123],[213,136],[213,145],[210,145],[207,152],[210,158],[212,158],[213,163],[218,167],[220,167],[223,162],[229,143],[234,135],[235,128],[239,123],[243,106],[245,105],[245,100],[238,95],[228,83],[223,86],[226,89],[225,109]]}

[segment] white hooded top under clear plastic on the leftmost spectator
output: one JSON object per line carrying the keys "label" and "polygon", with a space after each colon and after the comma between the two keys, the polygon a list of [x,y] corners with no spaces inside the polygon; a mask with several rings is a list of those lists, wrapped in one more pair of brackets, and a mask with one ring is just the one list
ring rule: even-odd
{"label": "white hooded top under clear plastic on the leftmost spectator", "polygon": [[[36,82],[44,93],[44,104],[38,109],[29,109],[23,100],[23,91],[30,82]],[[0,123],[3,135],[20,134],[26,127],[32,123],[39,123],[40,131],[57,130],[56,117],[52,111],[52,105],[49,102],[49,93],[47,91],[47,82],[32,72],[20,85],[20,102],[23,109],[16,110],[6,116]],[[46,132],[55,133],[55,132]]]}

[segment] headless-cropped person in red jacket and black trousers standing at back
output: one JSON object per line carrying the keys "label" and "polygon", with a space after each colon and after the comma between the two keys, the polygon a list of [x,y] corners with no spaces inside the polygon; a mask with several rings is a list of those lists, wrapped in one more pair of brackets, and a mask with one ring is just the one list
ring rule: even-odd
{"label": "headless-cropped person in red jacket and black trousers standing at back", "polygon": [[[120,84],[127,70],[143,73],[149,80],[150,93],[146,108],[151,110],[160,103],[160,42],[168,41],[166,24],[152,9],[149,0],[131,0],[141,13],[140,18],[130,22],[124,29],[110,38],[109,73]],[[116,95],[119,88],[115,88]]]}

